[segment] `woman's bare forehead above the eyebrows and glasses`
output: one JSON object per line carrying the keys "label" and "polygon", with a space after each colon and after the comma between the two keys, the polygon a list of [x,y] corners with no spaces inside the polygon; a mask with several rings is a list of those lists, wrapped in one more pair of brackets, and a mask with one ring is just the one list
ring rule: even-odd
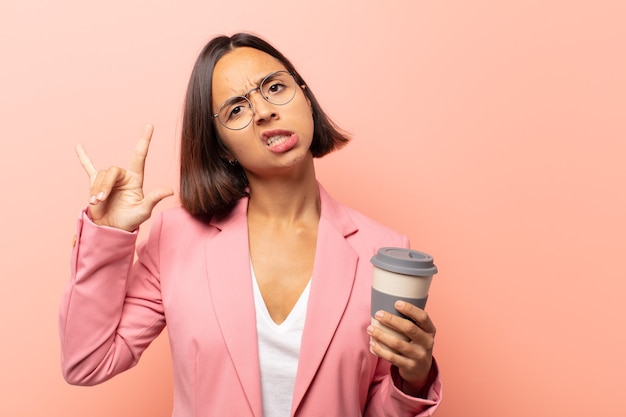
{"label": "woman's bare forehead above the eyebrows and glasses", "polygon": [[285,66],[273,56],[258,49],[242,47],[228,52],[213,69],[213,101],[222,101],[244,94],[263,78]]}

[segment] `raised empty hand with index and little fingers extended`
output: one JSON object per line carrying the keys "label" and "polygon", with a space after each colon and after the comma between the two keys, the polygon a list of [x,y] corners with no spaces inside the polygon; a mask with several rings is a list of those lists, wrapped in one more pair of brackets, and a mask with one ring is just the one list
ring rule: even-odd
{"label": "raised empty hand with index and little fingers extended", "polygon": [[128,170],[111,167],[98,171],[81,145],[76,146],[78,160],[89,176],[89,215],[94,223],[133,231],[148,220],[154,207],[174,194],[171,188],[143,193],[146,157],[154,128],[144,127]]}

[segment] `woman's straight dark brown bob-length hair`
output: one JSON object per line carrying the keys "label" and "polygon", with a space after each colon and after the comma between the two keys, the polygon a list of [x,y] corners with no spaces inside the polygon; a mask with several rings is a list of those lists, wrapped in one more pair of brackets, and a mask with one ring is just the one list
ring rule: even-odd
{"label": "woman's straight dark brown bob-length hair", "polygon": [[[185,98],[181,134],[180,199],[190,214],[210,218],[231,209],[248,195],[248,181],[238,164],[223,156],[225,147],[217,135],[212,115],[212,79],[217,61],[235,48],[250,47],[279,60],[299,85],[306,85],[289,60],[263,39],[237,33],[212,39],[198,57]],[[324,113],[310,88],[303,89],[313,109],[314,132],[310,151],[319,158],[345,145],[349,138]]]}

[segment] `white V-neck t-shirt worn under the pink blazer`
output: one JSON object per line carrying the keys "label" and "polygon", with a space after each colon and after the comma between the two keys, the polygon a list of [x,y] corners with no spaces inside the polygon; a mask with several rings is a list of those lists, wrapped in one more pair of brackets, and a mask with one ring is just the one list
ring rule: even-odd
{"label": "white V-neck t-shirt worn under the pink blazer", "polygon": [[259,339],[263,417],[288,417],[296,383],[300,341],[311,281],[309,280],[296,305],[281,324],[276,324],[267,310],[254,269],[252,282]]}

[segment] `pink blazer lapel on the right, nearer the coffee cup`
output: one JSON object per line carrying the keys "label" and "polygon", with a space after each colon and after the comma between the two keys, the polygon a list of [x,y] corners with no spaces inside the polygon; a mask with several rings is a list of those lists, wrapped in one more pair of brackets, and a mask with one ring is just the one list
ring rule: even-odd
{"label": "pink blazer lapel on the right, nearer the coffee cup", "polygon": [[320,217],[315,267],[307,318],[302,334],[300,361],[294,388],[296,410],[326,354],[352,292],[358,255],[346,241],[356,226],[345,209],[320,185]]}

